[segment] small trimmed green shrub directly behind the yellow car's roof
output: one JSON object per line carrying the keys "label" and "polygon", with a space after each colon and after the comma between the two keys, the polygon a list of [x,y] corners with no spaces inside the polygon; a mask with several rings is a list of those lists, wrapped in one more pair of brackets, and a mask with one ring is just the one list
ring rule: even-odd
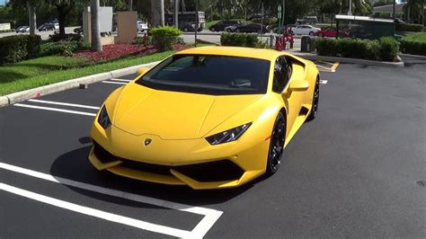
{"label": "small trimmed green shrub directly behind the yellow car's roof", "polygon": [[220,35],[222,46],[264,48],[256,34],[223,32]]}

